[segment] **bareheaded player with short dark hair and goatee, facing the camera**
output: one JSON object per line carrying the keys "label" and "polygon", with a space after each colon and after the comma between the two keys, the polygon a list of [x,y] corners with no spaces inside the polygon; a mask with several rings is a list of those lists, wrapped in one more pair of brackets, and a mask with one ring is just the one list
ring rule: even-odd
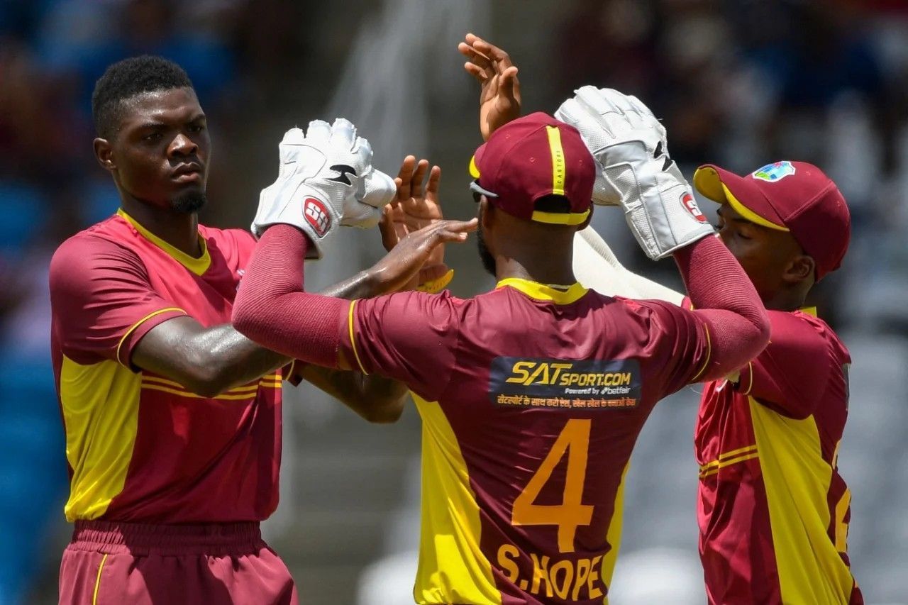
{"label": "bareheaded player with short dark hair and goatee, facing the camera", "polygon": [[[230,325],[255,240],[198,224],[211,159],[205,114],[183,70],[150,56],[109,67],[93,111],[95,155],[122,207],[63,243],[50,267],[65,515],[75,523],[60,602],[295,602],[259,531],[278,504],[281,368],[291,359]],[[317,128],[347,155],[368,148],[346,121]],[[328,184],[346,180],[348,163],[337,164]],[[413,174],[406,164],[402,177]],[[367,195],[311,208],[314,255],[329,226],[378,223],[394,183],[367,166],[358,179]],[[406,253],[330,293],[389,292]],[[400,384],[316,366],[303,375],[370,420],[400,414]]]}

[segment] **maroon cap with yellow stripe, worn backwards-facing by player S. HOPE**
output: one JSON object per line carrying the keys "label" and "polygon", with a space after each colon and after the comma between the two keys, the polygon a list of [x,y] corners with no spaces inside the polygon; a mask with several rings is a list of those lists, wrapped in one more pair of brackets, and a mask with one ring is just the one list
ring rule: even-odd
{"label": "maroon cap with yellow stripe, worn backwards-facing by player S. HOPE", "polygon": [[[498,128],[469,162],[470,185],[512,216],[580,224],[589,216],[596,164],[577,129],[537,112]],[[537,203],[562,195],[569,204]]]}

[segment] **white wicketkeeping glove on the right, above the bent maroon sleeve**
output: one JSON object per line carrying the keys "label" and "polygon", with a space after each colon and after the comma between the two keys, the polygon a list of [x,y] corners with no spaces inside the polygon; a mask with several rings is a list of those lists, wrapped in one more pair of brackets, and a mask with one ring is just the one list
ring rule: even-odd
{"label": "white wicketkeeping glove on the right, above the bent maroon sleeve", "polygon": [[666,129],[637,97],[584,86],[555,113],[580,132],[601,169],[593,198],[619,204],[640,247],[665,258],[715,233],[668,157]]}

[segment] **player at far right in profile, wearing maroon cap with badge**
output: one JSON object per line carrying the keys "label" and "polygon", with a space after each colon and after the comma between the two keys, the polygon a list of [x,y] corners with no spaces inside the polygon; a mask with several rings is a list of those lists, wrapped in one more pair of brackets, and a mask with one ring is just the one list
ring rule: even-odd
{"label": "player at far right in profile, wearing maroon cap with badge", "polygon": [[[482,84],[480,130],[488,136],[519,114],[517,67],[475,35],[459,50]],[[620,112],[608,94],[584,86],[557,113],[577,126],[597,159],[607,157],[607,124]],[[600,169],[607,180],[597,190],[607,191],[621,171],[602,161]],[[851,357],[816,309],[805,306],[814,283],[842,263],[848,207],[835,183],[803,162],[775,162],[743,177],[706,164],[694,185],[720,204],[719,236],[772,324],[765,350],[740,372],[707,382],[700,404],[697,520],[709,601],[863,603],[847,554],[851,493],[837,465]],[[690,304],[627,272],[590,229],[577,235],[575,250],[584,283]]]}

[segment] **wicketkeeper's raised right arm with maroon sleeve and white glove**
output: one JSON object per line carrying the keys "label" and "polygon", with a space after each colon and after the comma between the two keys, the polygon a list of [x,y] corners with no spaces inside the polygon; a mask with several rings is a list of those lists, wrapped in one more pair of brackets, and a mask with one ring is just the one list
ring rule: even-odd
{"label": "wicketkeeper's raised right arm with maroon sleeve and white glove", "polygon": [[584,86],[558,108],[577,127],[599,164],[601,203],[619,205],[653,260],[674,255],[710,356],[696,378],[741,368],[769,340],[763,303],[741,265],[696,207],[690,185],[668,155],[666,131],[636,97]]}

